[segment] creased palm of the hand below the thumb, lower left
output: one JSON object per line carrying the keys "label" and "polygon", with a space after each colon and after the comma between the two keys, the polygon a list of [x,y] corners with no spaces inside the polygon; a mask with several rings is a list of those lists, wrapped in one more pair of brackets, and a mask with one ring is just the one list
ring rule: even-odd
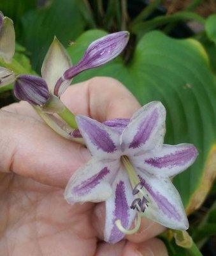
{"label": "creased palm of the hand below the thumb, lower left", "polygon": [[63,189],[16,174],[2,176],[1,188],[0,255],[94,255],[94,204],[71,207]]}

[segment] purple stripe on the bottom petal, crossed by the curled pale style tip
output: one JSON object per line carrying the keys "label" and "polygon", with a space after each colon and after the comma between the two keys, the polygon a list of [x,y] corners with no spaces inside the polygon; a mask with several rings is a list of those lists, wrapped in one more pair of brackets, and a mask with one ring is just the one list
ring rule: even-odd
{"label": "purple stripe on the bottom petal, crossed by the curled pale style tip", "polygon": [[109,242],[117,243],[117,241],[120,241],[125,234],[120,232],[119,228],[117,228],[115,225],[115,221],[120,220],[122,226],[125,228],[127,228],[127,225],[129,224],[129,205],[127,204],[126,188],[122,180],[120,180],[119,184],[117,184],[115,190],[115,210],[113,215],[113,228],[110,234]]}

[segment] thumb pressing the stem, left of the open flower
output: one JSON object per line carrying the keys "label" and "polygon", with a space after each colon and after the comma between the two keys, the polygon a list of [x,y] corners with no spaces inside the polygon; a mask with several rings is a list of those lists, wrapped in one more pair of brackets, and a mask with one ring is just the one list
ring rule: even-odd
{"label": "thumb pressing the stem, left of the open flower", "polygon": [[0,126],[0,172],[64,188],[71,173],[86,161],[82,145],[31,116],[0,109]]}

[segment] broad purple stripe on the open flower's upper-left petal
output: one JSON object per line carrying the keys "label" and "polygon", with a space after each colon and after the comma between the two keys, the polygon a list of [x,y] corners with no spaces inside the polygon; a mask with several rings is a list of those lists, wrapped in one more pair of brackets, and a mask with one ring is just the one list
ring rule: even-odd
{"label": "broad purple stripe on the open flower's upper-left petal", "polygon": [[110,134],[90,120],[90,118],[76,119],[81,132],[85,131],[87,136],[89,136],[90,141],[97,147],[97,149],[102,149],[106,153],[113,153],[117,150],[110,138]]}

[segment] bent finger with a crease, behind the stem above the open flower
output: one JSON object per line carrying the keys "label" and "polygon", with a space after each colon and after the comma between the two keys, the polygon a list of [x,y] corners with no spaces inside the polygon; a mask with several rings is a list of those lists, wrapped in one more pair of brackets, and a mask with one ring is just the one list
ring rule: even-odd
{"label": "bent finger with a crease, behind the stem above the open flower", "polygon": [[103,122],[112,118],[130,118],[140,108],[136,98],[117,80],[94,77],[68,88],[61,100],[75,115],[90,116]]}

